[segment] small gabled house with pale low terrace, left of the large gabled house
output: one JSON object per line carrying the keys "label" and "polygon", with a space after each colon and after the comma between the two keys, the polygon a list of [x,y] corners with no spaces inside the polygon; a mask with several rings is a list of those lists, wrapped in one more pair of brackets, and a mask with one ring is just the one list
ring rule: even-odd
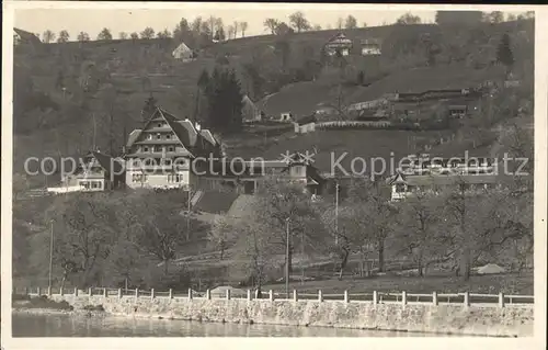
{"label": "small gabled house with pale low terrace, left of the large gabled house", "polygon": [[48,192],[100,192],[122,188],[125,182],[124,160],[99,150],[89,153],[75,171],[61,179],[61,185]]}

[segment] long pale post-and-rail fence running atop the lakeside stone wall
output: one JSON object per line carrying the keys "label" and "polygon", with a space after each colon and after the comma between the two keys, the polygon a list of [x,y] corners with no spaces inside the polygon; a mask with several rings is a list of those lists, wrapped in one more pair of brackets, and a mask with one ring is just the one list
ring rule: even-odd
{"label": "long pale post-and-rail fence running atop the lakeside stone wall", "polygon": [[[478,294],[478,293],[442,293],[438,294],[433,292],[431,294],[425,293],[387,293],[373,291],[372,293],[349,293],[345,291],[343,294],[323,294],[320,290],[318,293],[298,293],[298,291],[293,290],[289,293],[281,291],[269,291],[267,293],[261,293],[259,295],[256,291],[244,291],[233,292],[233,291],[222,291],[216,292],[207,290],[205,292],[196,292],[189,290],[184,292],[169,291],[155,291],[155,290],[125,290],[125,289],[111,289],[111,287],[89,287],[88,290],[78,289],[48,289],[48,287],[25,287],[25,289],[13,289],[14,295],[28,295],[28,296],[41,296],[41,295],[73,295],[73,296],[103,296],[103,297],[139,297],[139,298],[157,298],[157,297],[168,297],[168,298],[205,298],[205,300],[270,300],[270,301],[317,301],[317,302],[372,302],[374,304],[383,303],[400,303],[400,304],[460,304],[465,306],[470,306],[471,304],[492,304],[499,307],[504,307],[507,304],[511,305],[532,305],[535,303],[534,295],[505,295],[504,293],[499,294]],[[265,294],[265,295],[264,295]]]}

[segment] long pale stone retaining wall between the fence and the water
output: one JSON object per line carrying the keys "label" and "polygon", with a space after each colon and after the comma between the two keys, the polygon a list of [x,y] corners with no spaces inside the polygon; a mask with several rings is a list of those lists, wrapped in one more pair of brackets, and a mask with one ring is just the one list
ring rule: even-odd
{"label": "long pale stone retaining wall between the fence and the water", "polygon": [[533,336],[533,305],[413,303],[377,304],[343,301],[207,300],[187,297],[53,295],[81,309],[102,305],[106,313],[184,320],[323,326],[478,336]]}

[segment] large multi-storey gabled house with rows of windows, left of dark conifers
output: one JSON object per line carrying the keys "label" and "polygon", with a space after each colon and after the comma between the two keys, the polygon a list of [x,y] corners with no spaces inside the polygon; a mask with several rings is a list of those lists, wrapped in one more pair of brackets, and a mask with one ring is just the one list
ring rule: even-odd
{"label": "large multi-storey gabled house with rows of windows, left of dark conifers", "polygon": [[156,111],[142,129],[132,132],[126,145],[126,184],[129,188],[189,188],[206,161],[219,158],[220,144],[208,129],[179,120],[165,110]]}

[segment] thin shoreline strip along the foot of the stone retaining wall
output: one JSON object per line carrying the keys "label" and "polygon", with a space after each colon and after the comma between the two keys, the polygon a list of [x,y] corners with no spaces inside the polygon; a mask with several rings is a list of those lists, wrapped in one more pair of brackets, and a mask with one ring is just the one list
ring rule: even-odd
{"label": "thin shoreline strip along the foot of the stone retaining wall", "polygon": [[203,318],[192,318],[192,317],[176,317],[176,316],[162,316],[162,315],[146,315],[146,314],[124,314],[124,313],[107,313],[107,312],[89,312],[83,309],[75,309],[75,311],[65,311],[65,309],[55,309],[55,308],[25,308],[25,307],[12,307],[12,316],[13,315],[39,315],[39,316],[55,316],[55,315],[64,315],[64,316],[87,316],[87,317],[116,317],[116,318],[136,318],[136,319],[155,319],[155,320],[182,320],[182,321],[191,321],[191,323],[199,323],[199,324],[236,324],[236,325],[264,325],[264,326],[283,326],[283,327],[302,327],[302,328],[339,328],[339,329],[355,329],[355,330],[364,330],[364,331],[384,331],[384,332],[395,332],[395,334],[421,334],[426,336],[455,336],[455,337],[488,337],[488,338],[518,338],[517,336],[494,336],[494,335],[478,335],[478,334],[457,334],[450,331],[418,331],[418,330],[409,330],[409,329],[395,329],[395,328],[378,328],[378,327],[341,327],[341,326],[319,326],[319,325],[288,325],[288,324],[275,324],[275,323],[255,323],[255,321],[218,321],[215,319],[203,319]]}

